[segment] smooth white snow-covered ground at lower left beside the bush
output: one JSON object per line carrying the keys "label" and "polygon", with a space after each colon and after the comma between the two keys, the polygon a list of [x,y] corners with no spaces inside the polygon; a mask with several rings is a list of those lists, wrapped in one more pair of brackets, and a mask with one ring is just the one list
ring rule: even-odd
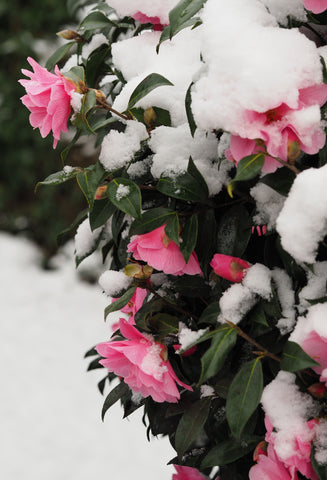
{"label": "smooth white snow-covered ground at lower left beside the bush", "polygon": [[77,280],[73,259],[43,271],[25,239],[0,234],[1,449],[6,480],[170,480],[167,439],[148,443],[141,411],[100,419],[99,370],[83,355],[106,340],[107,300]]}

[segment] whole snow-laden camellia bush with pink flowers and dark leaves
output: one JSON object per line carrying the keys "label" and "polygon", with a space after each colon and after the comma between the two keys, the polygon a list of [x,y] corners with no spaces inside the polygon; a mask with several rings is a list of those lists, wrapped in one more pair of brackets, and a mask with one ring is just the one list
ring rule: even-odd
{"label": "whole snow-laden camellia bush with pink flowers and dark leaves", "polygon": [[102,418],[143,409],[173,480],[326,480],[327,1],[69,3],[20,83],[43,137],[71,132],[39,183],[87,199],[76,264],[103,256]]}

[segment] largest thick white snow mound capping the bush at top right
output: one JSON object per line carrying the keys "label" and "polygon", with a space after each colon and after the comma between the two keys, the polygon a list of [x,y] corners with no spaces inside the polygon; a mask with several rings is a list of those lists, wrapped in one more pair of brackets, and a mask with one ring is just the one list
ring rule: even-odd
{"label": "largest thick white snow mound capping the bush at top right", "polygon": [[297,29],[278,28],[260,1],[208,0],[201,17],[207,70],[192,90],[198,127],[249,138],[246,110],[296,108],[299,89],[322,82],[315,44]]}

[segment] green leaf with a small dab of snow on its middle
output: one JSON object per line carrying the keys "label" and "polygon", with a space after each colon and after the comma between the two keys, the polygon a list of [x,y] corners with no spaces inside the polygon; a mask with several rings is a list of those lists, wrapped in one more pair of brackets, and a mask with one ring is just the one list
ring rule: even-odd
{"label": "green leaf with a small dab of snow on its middle", "polygon": [[141,190],[127,178],[114,178],[108,185],[107,194],[112,203],[134,218],[141,217]]}

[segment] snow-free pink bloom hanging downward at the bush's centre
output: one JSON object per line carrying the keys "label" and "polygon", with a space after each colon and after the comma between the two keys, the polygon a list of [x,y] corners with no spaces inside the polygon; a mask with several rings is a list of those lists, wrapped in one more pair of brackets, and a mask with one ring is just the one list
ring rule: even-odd
{"label": "snow-free pink bloom hanging downward at the bush's centre", "polygon": [[151,267],[172,275],[202,274],[196,253],[193,251],[185,263],[184,257],[173,240],[165,234],[165,225],[152,232],[137,235],[128,245],[136,260],[143,260]]}

